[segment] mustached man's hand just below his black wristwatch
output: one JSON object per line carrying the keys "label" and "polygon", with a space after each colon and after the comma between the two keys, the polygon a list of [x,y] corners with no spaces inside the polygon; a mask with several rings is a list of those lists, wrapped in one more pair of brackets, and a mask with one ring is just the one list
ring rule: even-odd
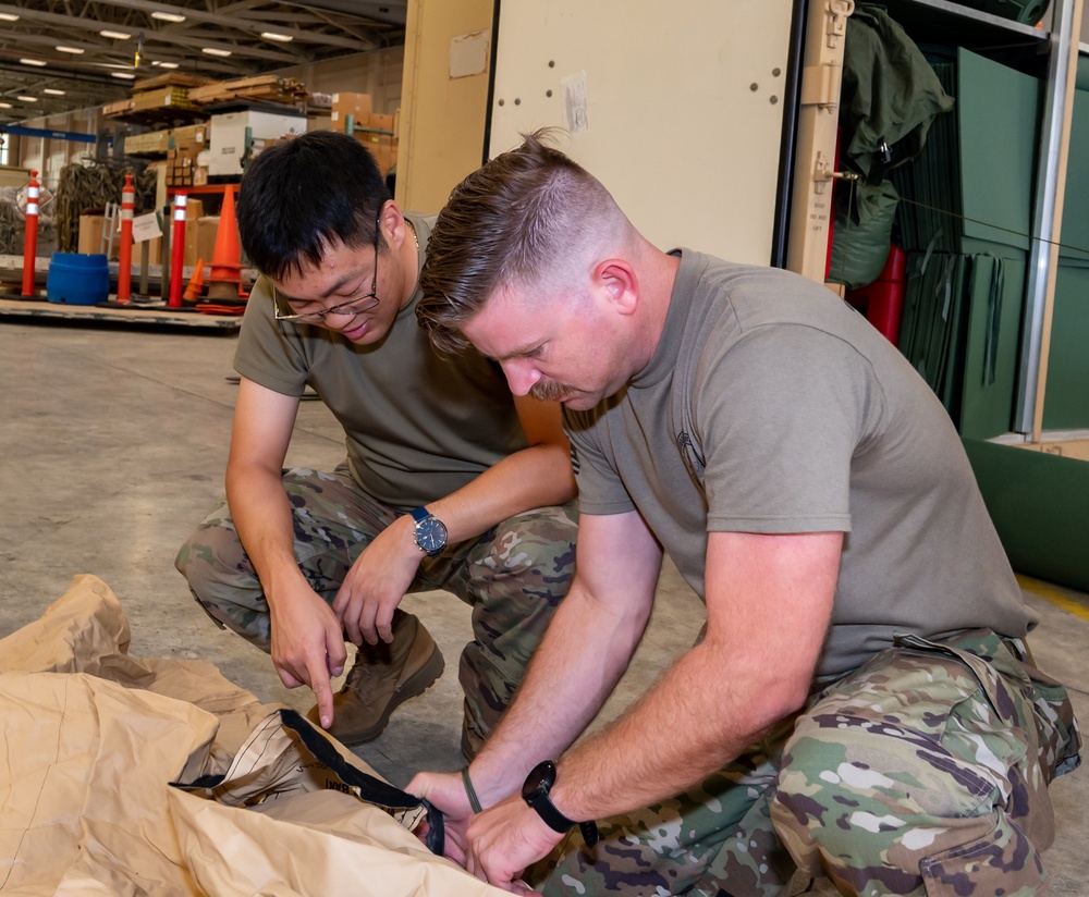
{"label": "mustached man's hand just below his black wristwatch", "polygon": [[495,887],[531,893],[518,875],[547,857],[563,838],[521,795],[512,795],[469,821],[465,869]]}

